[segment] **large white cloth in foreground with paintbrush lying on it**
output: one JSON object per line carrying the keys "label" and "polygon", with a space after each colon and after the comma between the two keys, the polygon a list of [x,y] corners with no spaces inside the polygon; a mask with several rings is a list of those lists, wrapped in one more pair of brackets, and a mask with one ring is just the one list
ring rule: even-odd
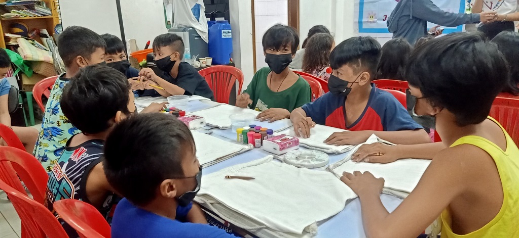
{"label": "large white cloth in foreground with paintbrush lying on it", "polygon": [[[225,179],[226,175],[255,179]],[[316,234],[317,221],[339,213],[355,197],[330,172],[296,168],[267,156],[204,175],[195,200],[223,204],[280,232]]]}

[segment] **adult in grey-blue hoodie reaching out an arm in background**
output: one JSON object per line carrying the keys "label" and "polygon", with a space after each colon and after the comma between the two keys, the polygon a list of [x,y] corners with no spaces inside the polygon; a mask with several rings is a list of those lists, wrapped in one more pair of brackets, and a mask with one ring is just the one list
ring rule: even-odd
{"label": "adult in grey-blue hoodie reaching out an arm in background", "polygon": [[446,12],[431,0],[400,0],[391,12],[387,25],[393,38],[402,37],[414,44],[420,37],[428,34],[427,22],[455,27],[480,21],[488,22],[494,20],[495,15],[494,11],[470,14]]}

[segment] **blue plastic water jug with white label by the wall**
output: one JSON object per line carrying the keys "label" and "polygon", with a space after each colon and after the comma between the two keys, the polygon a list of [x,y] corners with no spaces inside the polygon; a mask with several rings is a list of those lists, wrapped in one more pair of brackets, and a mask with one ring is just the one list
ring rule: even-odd
{"label": "blue plastic water jug with white label by the wall", "polygon": [[209,57],[213,58],[214,65],[229,64],[233,53],[233,32],[227,21],[216,21],[209,28]]}

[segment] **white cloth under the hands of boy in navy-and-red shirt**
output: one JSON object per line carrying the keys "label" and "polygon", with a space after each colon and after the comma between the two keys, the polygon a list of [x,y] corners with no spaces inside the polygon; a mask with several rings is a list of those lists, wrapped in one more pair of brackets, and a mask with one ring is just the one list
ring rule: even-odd
{"label": "white cloth under the hands of boy in navy-and-red shirt", "polygon": [[[312,150],[322,151],[329,154],[342,154],[346,153],[352,148],[354,148],[354,145],[341,145],[341,146],[335,146],[335,145],[329,145],[324,143],[324,140],[328,139],[333,132],[342,132],[347,131],[335,127],[329,127],[329,126],[323,126],[323,125],[316,125],[315,127],[310,129],[310,138],[303,138],[298,137],[299,144],[301,144],[303,147],[310,148]],[[284,131],[279,132],[277,135],[289,135],[293,137],[297,137],[294,132],[294,128],[289,128]]]}

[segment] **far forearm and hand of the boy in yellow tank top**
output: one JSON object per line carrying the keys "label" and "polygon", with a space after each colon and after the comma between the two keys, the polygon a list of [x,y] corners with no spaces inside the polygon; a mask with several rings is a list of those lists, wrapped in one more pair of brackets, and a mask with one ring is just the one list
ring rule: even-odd
{"label": "far forearm and hand of the boy in yellow tank top", "polygon": [[[386,145],[382,143],[365,144],[351,156],[354,162],[390,163],[398,159],[432,159],[447,148],[443,142],[416,145]],[[381,155],[377,155],[380,153]]]}

